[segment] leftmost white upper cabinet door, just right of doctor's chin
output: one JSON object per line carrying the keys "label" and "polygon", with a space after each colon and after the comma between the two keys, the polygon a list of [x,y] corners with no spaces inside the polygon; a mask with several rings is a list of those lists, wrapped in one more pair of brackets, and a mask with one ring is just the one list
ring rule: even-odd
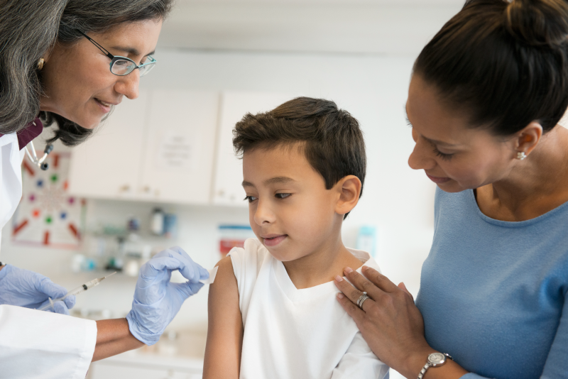
{"label": "leftmost white upper cabinet door, just right of doctor's chin", "polygon": [[82,197],[133,198],[146,136],[148,92],[124,100],[87,141],[72,149],[70,193]]}

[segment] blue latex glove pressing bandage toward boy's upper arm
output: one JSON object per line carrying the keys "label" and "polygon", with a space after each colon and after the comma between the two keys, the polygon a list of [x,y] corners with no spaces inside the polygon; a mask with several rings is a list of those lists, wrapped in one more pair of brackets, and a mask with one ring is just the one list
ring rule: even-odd
{"label": "blue latex glove pressing bandage toward boy's upper arm", "polygon": [[[180,270],[188,281],[170,282],[173,270]],[[207,278],[209,272],[179,246],[153,256],[140,268],[132,310],[126,316],[130,332],[146,345],[158,342],[183,302],[195,295],[203,287],[200,280]]]}

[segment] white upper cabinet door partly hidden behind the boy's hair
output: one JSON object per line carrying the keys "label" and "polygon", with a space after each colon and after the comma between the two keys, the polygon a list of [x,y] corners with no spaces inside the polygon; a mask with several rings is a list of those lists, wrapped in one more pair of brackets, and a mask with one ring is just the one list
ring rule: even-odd
{"label": "white upper cabinet door partly hidden behind the boy's hair", "polygon": [[243,163],[233,149],[233,128],[247,113],[270,111],[293,99],[290,94],[263,92],[224,92],[221,101],[219,136],[217,138],[217,167],[213,191],[213,203],[248,207],[243,201]]}

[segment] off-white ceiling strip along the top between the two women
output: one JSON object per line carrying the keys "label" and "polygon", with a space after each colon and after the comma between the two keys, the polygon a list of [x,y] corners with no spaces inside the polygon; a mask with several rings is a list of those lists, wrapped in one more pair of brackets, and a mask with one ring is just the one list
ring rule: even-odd
{"label": "off-white ceiling strip along the top between the two women", "polygon": [[178,0],[170,48],[417,55],[464,0]]}

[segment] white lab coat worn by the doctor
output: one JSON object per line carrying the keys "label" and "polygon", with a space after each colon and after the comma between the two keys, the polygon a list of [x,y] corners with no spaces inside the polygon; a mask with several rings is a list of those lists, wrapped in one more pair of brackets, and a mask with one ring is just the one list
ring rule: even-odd
{"label": "white lab coat worn by the doctor", "polygon": [[[23,154],[16,133],[0,137],[0,231],[22,196]],[[94,321],[0,305],[0,379],[84,379],[96,341]]]}

